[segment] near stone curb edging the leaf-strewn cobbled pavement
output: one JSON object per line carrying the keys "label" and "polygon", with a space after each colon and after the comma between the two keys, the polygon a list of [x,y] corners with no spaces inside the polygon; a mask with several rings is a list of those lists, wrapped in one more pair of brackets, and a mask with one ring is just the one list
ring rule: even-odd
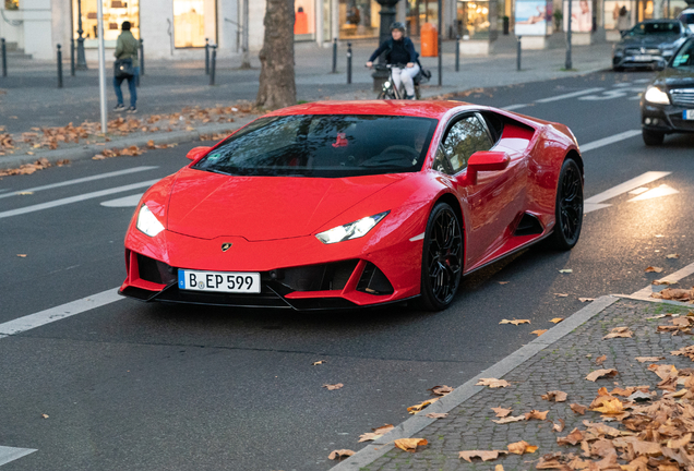
{"label": "near stone curb edging the leaf-strewn cobbled pavement", "polygon": [[[515,352],[511,353],[505,359],[501,360],[493,366],[484,370],[477,376],[468,379],[462,386],[455,388],[452,392],[445,395],[433,404],[427,407],[427,413],[439,412],[446,413],[458,407],[467,399],[471,398],[478,392],[484,390],[484,386],[476,386],[479,378],[482,377],[495,377],[501,378],[503,375],[510,373],[515,367],[519,366],[526,360],[535,357],[542,350],[551,347],[562,337],[571,334],[574,329],[600,314],[610,305],[614,304],[620,297],[618,295],[605,295],[593,301],[589,305],[581,311],[572,314],[569,318],[562,321],[537,339],[533,340],[525,347],[519,348]],[[410,438],[414,434],[418,433],[428,425],[434,423],[436,419],[430,419],[422,415],[414,415],[406,420],[402,424],[397,425],[387,434],[373,442],[372,445],[359,450],[345,461],[331,468],[331,471],[357,471],[368,464],[371,464],[376,459],[395,448],[393,440],[398,438]]]}

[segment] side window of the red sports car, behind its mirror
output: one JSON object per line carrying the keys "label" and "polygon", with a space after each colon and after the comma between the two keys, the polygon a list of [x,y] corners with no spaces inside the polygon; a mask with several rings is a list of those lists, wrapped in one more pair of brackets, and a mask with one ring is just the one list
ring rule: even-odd
{"label": "side window of the red sports car, behind its mirror", "polygon": [[450,174],[458,173],[467,167],[472,154],[489,150],[492,145],[484,123],[475,114],[466,116],[448,129],[436,152],[434,169]]}

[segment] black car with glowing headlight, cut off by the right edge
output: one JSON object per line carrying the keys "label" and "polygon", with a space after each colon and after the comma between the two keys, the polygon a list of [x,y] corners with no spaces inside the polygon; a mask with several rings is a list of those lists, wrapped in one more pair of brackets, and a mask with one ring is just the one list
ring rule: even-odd
{"label": "black car with glowing headlight, cut off by the right edge", "polygon": [[694,132],[694,38],[675,52],[641,98],[646,145],[662,144],[666,134]]}

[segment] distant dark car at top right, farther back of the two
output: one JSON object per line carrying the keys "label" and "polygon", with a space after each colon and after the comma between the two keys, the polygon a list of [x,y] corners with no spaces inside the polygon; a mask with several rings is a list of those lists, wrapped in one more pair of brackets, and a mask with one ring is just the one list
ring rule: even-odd
{"label": "distant dark car at top right, farther back of the two", "polygon": [[612,69],[649,68],[662,70],[690,29],[679,20],[647,20],[622,34],[612,51]]}

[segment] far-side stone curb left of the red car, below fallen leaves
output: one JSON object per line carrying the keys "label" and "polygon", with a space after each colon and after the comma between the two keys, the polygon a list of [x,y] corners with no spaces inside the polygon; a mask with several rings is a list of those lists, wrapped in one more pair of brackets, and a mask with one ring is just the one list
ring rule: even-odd
{"label": "far-side stone curb left of the red car, below fallen leaves", "polygon": [[154,141],[155,145],[181,144],[198,141],[203,134],[231,133],[239,128],[248,124],[254,119],[255,117],[247,117],[230,123],[203,125],[195,129],[194,131],[172,131],[139,135],[130,138],[124,137],[108,142],[106,143],[106,145],[88,144],[80,147],[70,147],[64,149],[48,150],[45,153],[36,153],[34,155],[23,154],[9,157],[0,157],[0,170],[17,168],[24,164],[34,164],[40,158],[45,158],[51,164],[56,164],[58,160],[62,159],[70,159],[71,161],[85,160],[91,159],[96,154],[104,152],[104,149],[123,148],[130,147],[132,145],[144,146],[149,141]]}

